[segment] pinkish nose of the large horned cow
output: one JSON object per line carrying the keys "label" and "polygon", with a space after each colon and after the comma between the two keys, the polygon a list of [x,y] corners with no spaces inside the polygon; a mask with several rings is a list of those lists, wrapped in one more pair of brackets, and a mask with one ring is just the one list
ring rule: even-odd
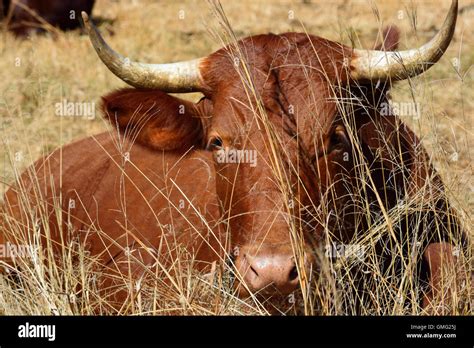
{"label": "pinkish nose of the large horned cow", "polygon": [[244,254],[237,268],[253,293],[274,292],[276,288],[278,293],[286,295],[299,285],[293,253]]}

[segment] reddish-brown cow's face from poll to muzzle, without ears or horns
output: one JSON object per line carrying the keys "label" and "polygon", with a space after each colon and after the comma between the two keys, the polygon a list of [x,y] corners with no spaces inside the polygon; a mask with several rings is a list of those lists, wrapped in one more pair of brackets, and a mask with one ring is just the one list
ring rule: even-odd
{"label": "reddish-brown cow's face from poll to muzzle, without ears or horns", "polygon": [[203,69],[212,90],[206,145],[249,288],[239,290],[284,294],[311,268],[327,222],[321,207],[347,196],[351,145],[334,102],[345,52],[304,34],[252,37],[238,51],[215,53]]}

